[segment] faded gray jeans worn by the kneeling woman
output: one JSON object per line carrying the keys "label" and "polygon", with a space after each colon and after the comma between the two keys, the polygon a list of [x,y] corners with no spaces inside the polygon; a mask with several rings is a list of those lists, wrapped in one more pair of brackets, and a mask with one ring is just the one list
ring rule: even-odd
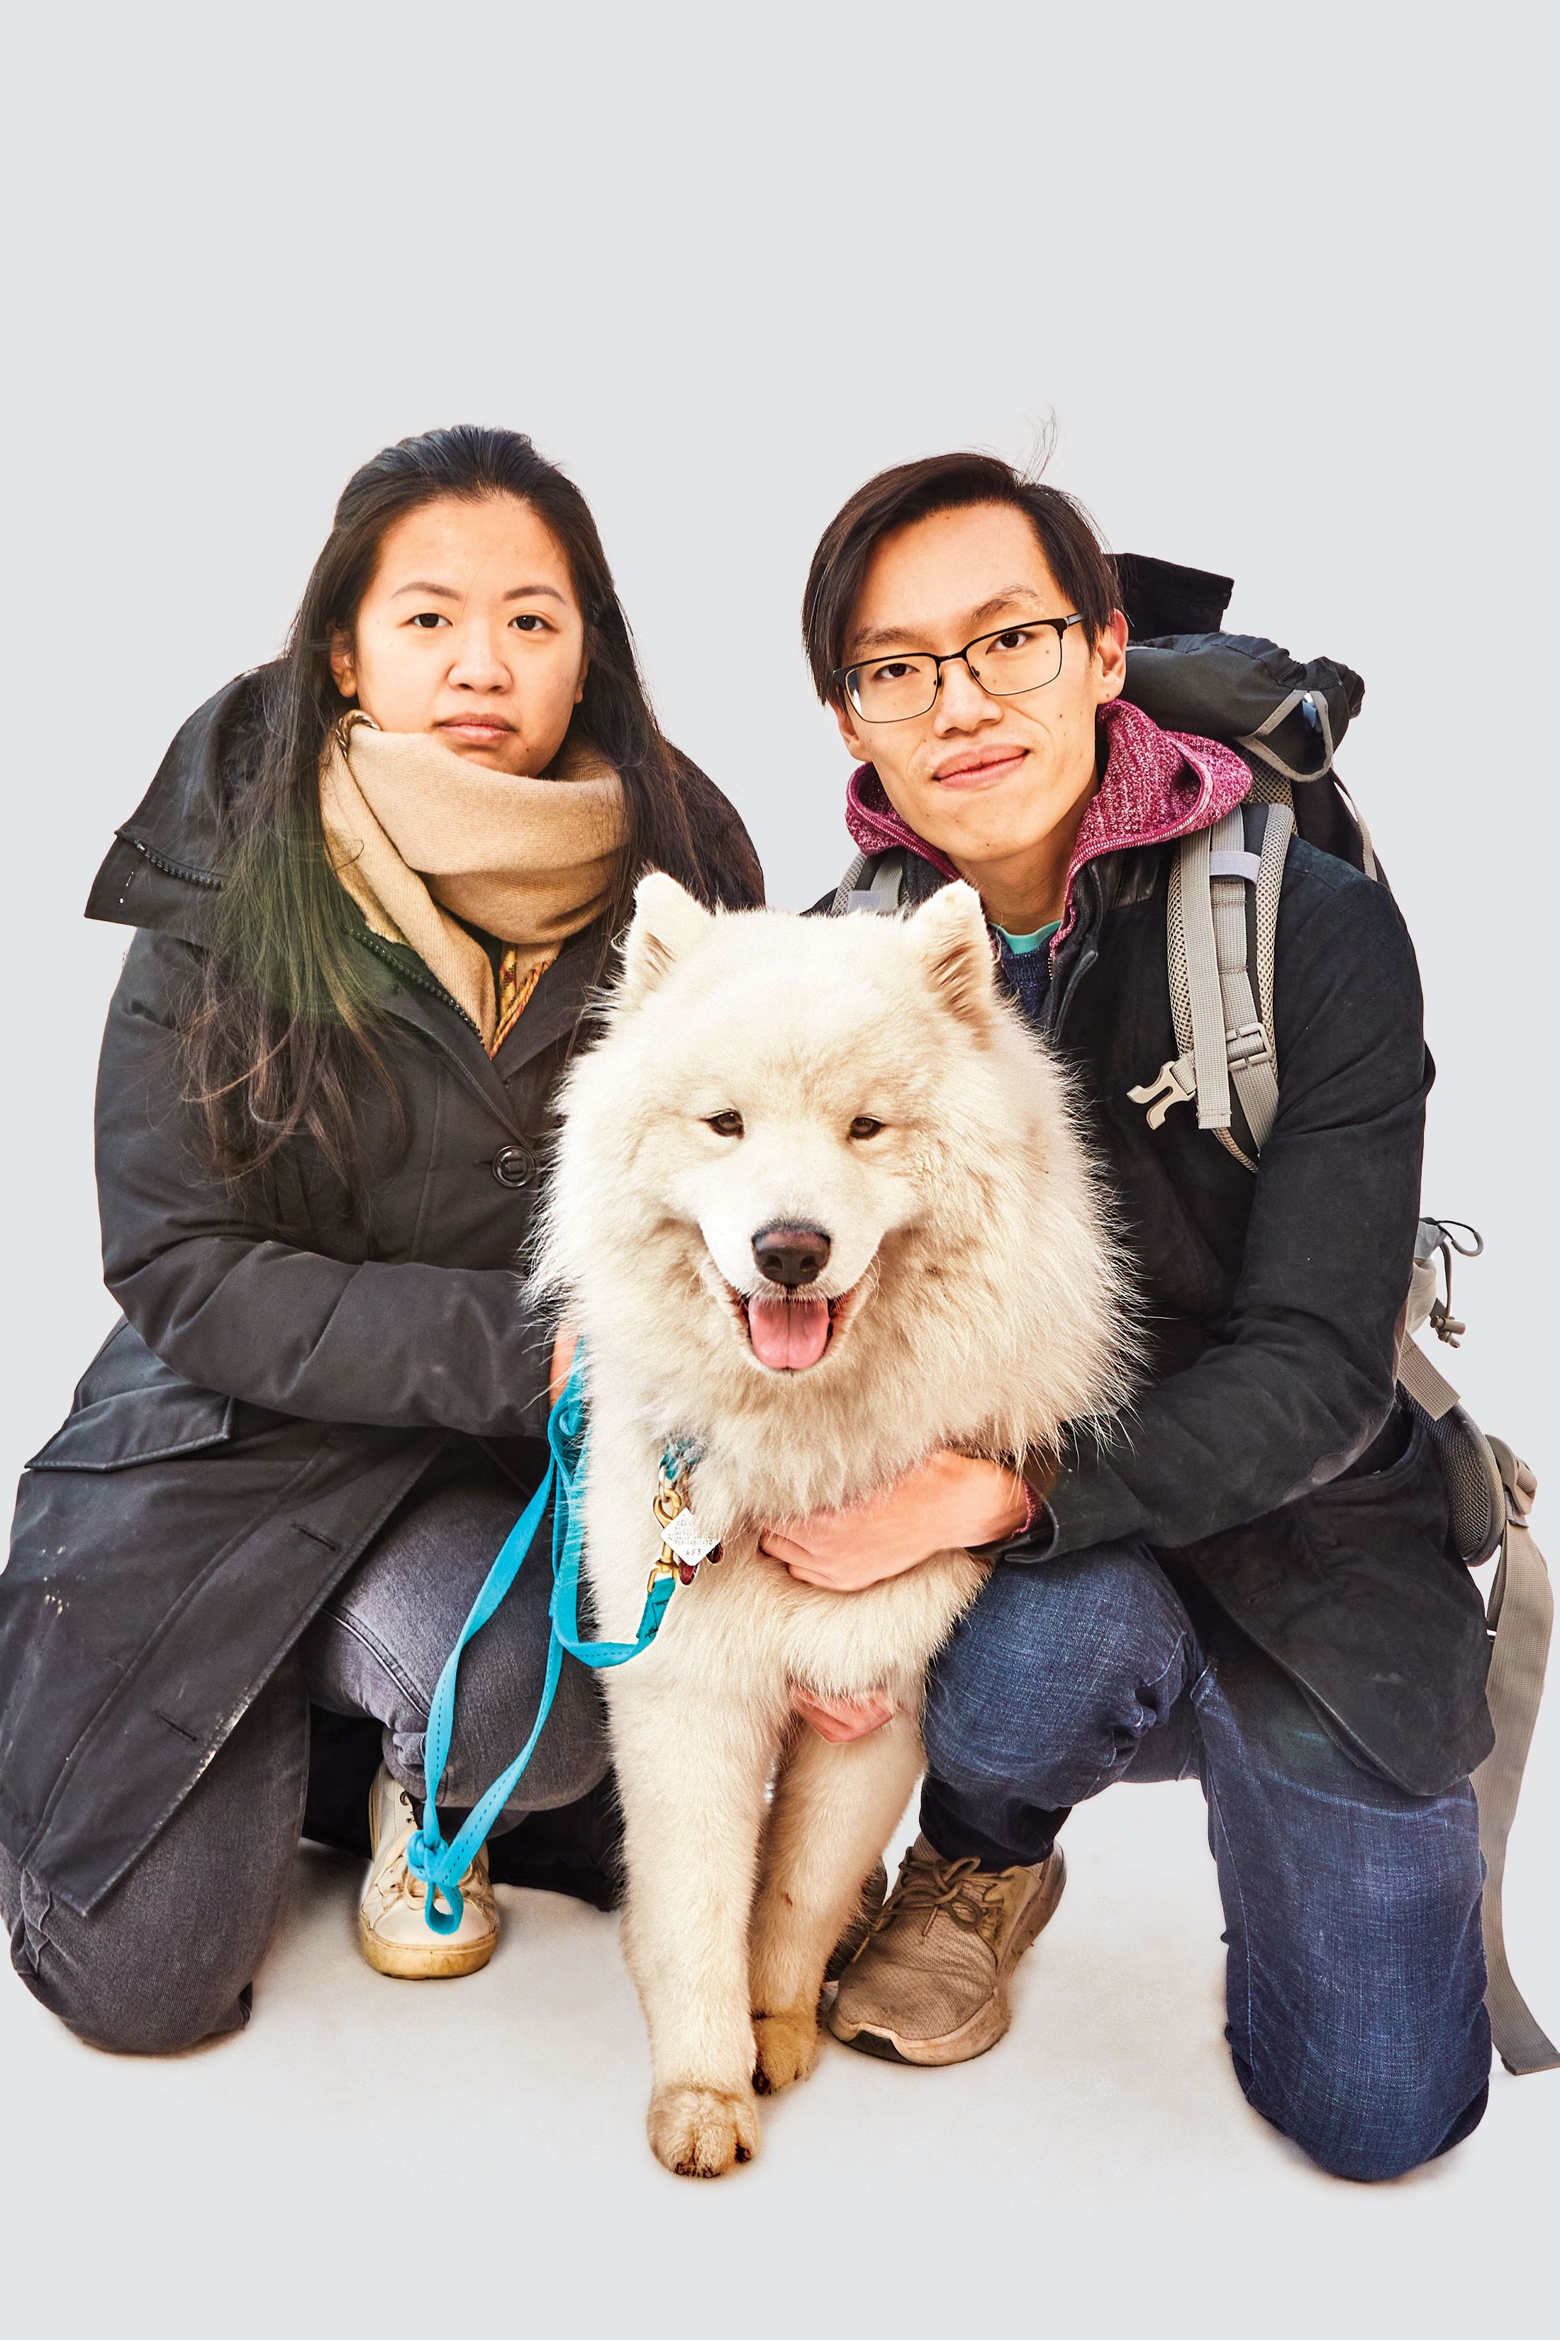
{"label": "faded gray jeans worn by the kneeling woman", "polygon": [[[421,1799],[433,1687],[519,1509],[519,1491],[479,1448],[440,1458],[89,1916],[51,1900],[0,1846],[12,1966],[35,1998],[94,2047],[140,2055],[171,2055],[248,2022],[250,1977],[297,1851],[309,1704],[377,1718],[386,1767]],[[440,1811],[475,1804],[531,1729],[550,1589],[538,1551],[461,1659]],[[505,1818],[573,1804],[606,1769],[601,1694],[566,1657],[552,1718]]]}

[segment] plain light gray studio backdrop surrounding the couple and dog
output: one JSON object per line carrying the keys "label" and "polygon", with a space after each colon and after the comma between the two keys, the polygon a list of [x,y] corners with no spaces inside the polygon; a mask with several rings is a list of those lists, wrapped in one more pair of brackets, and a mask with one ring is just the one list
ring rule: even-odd
{"label": "plain light gray studio backdrop surrounding the couple and dog", "polygon": [[[1055,419],[1050,477],[1116,548],[1233,573],[1233,625],[1366,676],[1342,768],[1424,966],[1427,1205],[1490,1238],[1457,1378],[1560,1470],[1537,12],[98,5],[9,54],[12,1465],[112,1315],[89,1114],[126,938],[80,906],[182,716],[278,646],[348,470],[433,424],[531,431],[594,503],[667,728],[802,903],[849,852],[798,651],[819,529],[884,463],[1024,456]],[[1551,2026],[1558,1741],[1511,1886]],[[566,2312],[573,2256],[587,2331],[1459,2328],[1560,2174],[1560,2078],[1497,2076],[1480,2136],[1389,2193],[1300,2169],[1223,2069],[1200,1828],[1186,1788],[1083,1814],[1013,2040],[952,2076],[835,2052],[711,2193],[639,2141],[608,1921],[508,1895],[484,1977],[395,1989],[311,1860],[220,2052],[110,2064],[5,1980],[23,2256],[54,2314],[133,2331],[168,2307],[152,2244],[234,2331],[421,2319],[428,2204],[456,2267],[493,2223],[456,2293],[479,2321]]]}

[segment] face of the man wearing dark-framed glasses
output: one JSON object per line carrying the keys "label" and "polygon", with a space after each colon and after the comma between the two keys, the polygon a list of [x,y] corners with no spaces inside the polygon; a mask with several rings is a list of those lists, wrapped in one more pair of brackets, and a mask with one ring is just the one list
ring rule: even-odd
{"label": "face of the man wearing dark-framed glasses", "polygon": [[[933,512],[886,536],[851,611],[844,658],[959,651],[1027,618],[1067,618],[1024,512],[975,503]],[[992,697],[964,662],[943,667],[924,716],[868,723],[849,700],[840,732],[877,768],[889,803],[959,868],[1031,852],[1095,786],[1095,716],[1125,681],[1127,622],[1095,648],[1081,625],[1062,636],[1062,672],[1038,690]]]}

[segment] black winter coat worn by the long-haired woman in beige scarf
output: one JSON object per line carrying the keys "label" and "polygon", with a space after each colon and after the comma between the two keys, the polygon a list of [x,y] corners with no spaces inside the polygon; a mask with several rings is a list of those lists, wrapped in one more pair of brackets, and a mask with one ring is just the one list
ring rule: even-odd
{"label": "black winter coat worn by the long-haired woman in beige scarf", "polygon": [[[0,1575],[0,1835],[77,1912],[150,1844],[451,1432],[522,1484],[545,1460],[550,1327],[519,1268],[601,936],[564,948],[489,1062],[421,962],[365,929],[402,1041],[405,1151],[370,1119],[370,1156],[391,1163],[372,1191],[344,1198],[299,1147],[241,1207],[199,1168],[173,1013],[248,709],[241,681],[189,718],[87,910],[140,929],[98,1072],[124,1320],[23,1474]],[[744,835],[702,775],[690,786],[706,835]]]}

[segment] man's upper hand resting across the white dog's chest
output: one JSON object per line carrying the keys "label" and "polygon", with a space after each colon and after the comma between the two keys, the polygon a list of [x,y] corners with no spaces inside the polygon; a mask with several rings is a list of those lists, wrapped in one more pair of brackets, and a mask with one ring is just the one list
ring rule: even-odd
{"label": "man's upper hand resting across the white dog's chest", "polygon": [[1017,1472],[940,1446],[896,1486],[851,1512],[816,1512],[769,1528],[758,1549],[781,1561],[798,1584],[858,1594],[933,1551],[994,1544],[1017,1535],[1029,1495]]}

